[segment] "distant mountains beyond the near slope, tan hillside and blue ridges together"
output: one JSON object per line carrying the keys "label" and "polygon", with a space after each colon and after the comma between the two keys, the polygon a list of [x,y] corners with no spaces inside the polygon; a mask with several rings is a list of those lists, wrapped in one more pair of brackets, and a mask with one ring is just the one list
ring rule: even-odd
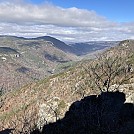
{"label": "distant mountains beyond the near slope, tan hillside and blue ridges together", "polygon": [[50,36],[23,38],[0,36],[0,86],[7,90],[62,72],[87,54],[118,42],[94,41],[66,44]]}

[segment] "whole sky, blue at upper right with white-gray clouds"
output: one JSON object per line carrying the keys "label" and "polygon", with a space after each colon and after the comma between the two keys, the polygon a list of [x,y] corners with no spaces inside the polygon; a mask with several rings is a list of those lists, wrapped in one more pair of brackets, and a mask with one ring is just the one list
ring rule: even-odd
{"label": "whole sky, blue at upper right with white-gray clouds", "polygon": [[0,0],[0,35],[134,39],[134,0]]}

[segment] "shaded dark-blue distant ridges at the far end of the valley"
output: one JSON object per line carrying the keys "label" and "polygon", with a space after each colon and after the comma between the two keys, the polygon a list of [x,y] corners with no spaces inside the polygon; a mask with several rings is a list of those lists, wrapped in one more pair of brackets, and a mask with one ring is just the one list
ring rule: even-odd
{"label": "shaded dark-blue distant ridges at the far end of the valley", "polygon": [[67,45],[64,42],[50,36],[37,37],[36,39],[50,41],[56,48],[66,53],[75,54],[77,56],[86,55],[97,50],[103,50],[111,46],[117,45],[118,43],[118,41],[90,41]]}

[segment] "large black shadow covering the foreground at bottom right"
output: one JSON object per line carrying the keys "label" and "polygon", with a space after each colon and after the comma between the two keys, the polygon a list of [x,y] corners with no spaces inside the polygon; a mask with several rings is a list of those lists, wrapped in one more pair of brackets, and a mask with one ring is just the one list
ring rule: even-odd
{"label": "large black shadow covering the foreground at bottom right", "polygon": [[134,105],[118,91],[87,96],[63,119],[45,125],[42,134],[134,134]]}

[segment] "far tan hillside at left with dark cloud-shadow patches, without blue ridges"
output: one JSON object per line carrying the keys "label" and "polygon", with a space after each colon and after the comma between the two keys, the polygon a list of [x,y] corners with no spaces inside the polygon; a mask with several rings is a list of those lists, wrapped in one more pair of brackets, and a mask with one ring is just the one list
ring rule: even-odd
{"label": "far tan hillside at left with dark cloud-shadow patches, without blue ridges", "polygon": [[63,52],[50,41],[0,36],[0,87],[19,88],[61,72],[75,60],[75,55]]}

